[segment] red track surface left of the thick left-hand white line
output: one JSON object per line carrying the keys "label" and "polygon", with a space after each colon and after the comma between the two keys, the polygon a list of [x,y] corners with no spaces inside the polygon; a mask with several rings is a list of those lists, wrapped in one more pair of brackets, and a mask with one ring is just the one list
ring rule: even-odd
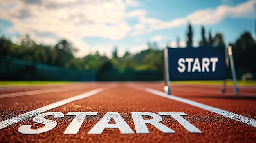
{"label": "red track surface left of the thick left-hand white line", "polygon": [[[0,98],[0,112],[1,117],[0,121],[16,117],[20,114],[35,110],[42,106],[49,105],[51,103],[79,95],[90,90],[94,90],[101,86],[106,86],[109,83],[99,84],[99,86],[87,85],[84,88],[79,89],[69,89],[70,91],[63,92],[48,92],[27,96],[18,96],[18,97],[6,97]],[[83,85],[83,84],[82,84]],[[81,85],[80,85],[81,86]],[[51,88],[50,88],[51,89]]]}

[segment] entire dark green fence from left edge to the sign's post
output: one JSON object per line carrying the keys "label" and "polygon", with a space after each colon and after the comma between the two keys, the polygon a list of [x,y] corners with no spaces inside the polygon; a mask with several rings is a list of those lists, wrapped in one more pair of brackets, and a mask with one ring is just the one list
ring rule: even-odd
{"label": "entire dark green fence from left edge to the sign's post", "polygon": [[160,81],[161,70],[135,71],[133,69],[77,70],[31,62],[23,59],[0,57],[0,80],[26,81]]}

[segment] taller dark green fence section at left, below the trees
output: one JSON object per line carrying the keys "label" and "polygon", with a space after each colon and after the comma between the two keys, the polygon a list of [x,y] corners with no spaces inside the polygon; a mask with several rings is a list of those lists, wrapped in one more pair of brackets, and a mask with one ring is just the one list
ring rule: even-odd
{"label": "taller dark green fence section at left, below the trees", "polygon": [[0,57],[0,80],[95,81],[95,70],[77,70]]}

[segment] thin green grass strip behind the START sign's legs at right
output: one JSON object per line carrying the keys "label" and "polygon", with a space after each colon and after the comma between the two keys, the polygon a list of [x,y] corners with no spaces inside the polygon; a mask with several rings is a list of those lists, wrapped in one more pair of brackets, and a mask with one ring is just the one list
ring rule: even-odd
{"label": "thin green grass strip behind the START sign's legs at right", "polygon": [[[171,84],[223,85],[223,81],[171,81]],[[256,86],[256,81],[237,81],[238,86]],[[227,80],[227,86],[233,86],[233,80]]]}

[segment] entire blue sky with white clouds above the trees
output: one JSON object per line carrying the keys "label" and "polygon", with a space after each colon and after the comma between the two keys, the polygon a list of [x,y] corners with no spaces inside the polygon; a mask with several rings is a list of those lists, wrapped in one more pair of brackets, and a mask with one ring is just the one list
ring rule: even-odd
{"label": "entire blue sky with white clouds above the trees", "polygon": [[[201,26],[225,43],[249,31],[255,38],[256,0],[1,0],[0,35],[18,42],[28,34],[37,43],[55,45],[66,39],[83,57],[99,51],[118,56],[148,49],[147,42],[186,46],[188,22],[193,46]],[[207,36],[208,37],[208,36]]]}

